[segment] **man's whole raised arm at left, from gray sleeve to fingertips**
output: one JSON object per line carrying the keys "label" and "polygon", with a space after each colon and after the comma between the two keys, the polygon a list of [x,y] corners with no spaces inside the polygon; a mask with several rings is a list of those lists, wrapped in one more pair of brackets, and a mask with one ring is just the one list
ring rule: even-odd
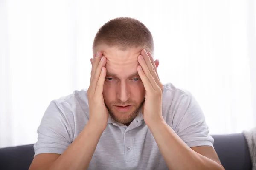
{"label": "man's whole raised arm at left, from gray sleeve to fingertips", "polygon": [[[34,146],[36,156],[29,170],[85,170],[88,168],[108,122],[108,110],[102,95],[106,58],[99,52],[91,62],[91,79],[87,91],[89,102],[87,125],[71,142],[73,137],[70,135],[72,134],[70,122],[58,103],[52,102],[38,128],[38,142]],[[72,114],[70,106],[66,108],[65,111]]]}

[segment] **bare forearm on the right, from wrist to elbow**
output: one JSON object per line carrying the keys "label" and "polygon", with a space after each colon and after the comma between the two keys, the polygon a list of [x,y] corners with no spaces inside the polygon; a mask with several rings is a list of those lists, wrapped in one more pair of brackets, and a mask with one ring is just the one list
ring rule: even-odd
{"label": "bare forearm on the right, from wrist to elbow", "polygon": [[223,170],[217,162],[195,152],[162,121],[149,126],[170,170]]}

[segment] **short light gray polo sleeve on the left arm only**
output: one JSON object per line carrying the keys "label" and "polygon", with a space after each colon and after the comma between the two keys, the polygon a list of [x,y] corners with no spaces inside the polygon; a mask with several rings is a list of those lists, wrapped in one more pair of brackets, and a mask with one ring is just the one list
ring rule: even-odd
{"label": "short light gray polo sleeve on the left arm only", "polygon": [[39,153],[62,154],[71,144],[70,123],[57,102],[52,101],[46,109],[37,133],[34,157]]}

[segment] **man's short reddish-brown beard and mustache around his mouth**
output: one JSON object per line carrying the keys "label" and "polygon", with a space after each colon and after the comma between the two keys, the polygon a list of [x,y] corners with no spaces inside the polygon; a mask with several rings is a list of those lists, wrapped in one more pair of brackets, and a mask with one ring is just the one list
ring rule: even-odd
{"label": "man's short reddish-brown beard and mustache around his mouth", "polygon": [[[122,102],[121,100],[118,100],[116,102],[110,102],[109,105],[107,105],[106,102],[104,102],[104,103],[105,103],[105,106],[108,109],[108,113],[111,116],[111,118],[113,119],[113,121],[122,123],[122,124],[127,124],[127,123],[132,122],[138,116],[139,111],[142,108],[144,102],[145,102],[145,98],[142,100],[140,105],[138,105],[137,102],[131,101],[131,100],[127,100],[126,102]],[[115,114],[112,109],[112,107],[114,105],[133,105],[133,106],[135,106],[135,110],[129,111],[127,113],[119,112],[119,113]]]}

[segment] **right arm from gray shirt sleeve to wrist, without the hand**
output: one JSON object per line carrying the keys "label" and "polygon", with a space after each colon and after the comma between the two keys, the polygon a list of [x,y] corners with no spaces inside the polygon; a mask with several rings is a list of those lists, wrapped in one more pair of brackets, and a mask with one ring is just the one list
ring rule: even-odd
{"label": "right arm from gray shirt sleeve to wrist, without the hand", "polygon": [[[183,93],[175,102],[175,108],[173,118],[175,121],[172,128],[166,122],[160,123],[160,132],[158,132],[160,129],[154,123],[150,127],[152,134],[155,134],[153,136],[157,144],[161,146],[159,148],[164,148],[161,152],[163,157],[166,157],[166,164],[169,164],[169,158],[174,153],[175,156],[181,156],[184,157],[183,160],[187,160],[183,163],[178,160],[174,161],[177,163],[176,166],[190,166],[189,169],[198,170],[224,169],[212,147],[213,139],[209,136],[209,128],[205,123],[204,114],[195,98],[190,93]],[[158,123],[156,122],[156,124]],[[160,135],[164,137],[161,138]],[[172,139],[169,139],[170,137]],[[168,142],[164,144],[164,140],[168,140]],[[168,153],[167,148],[169,148],[170,143],[174,147],[172,147],[173,151]],[[177,157],[174,159],[177,159]],[[175,163],[172,166],[175,166]],[[175,167],[174,169],[178,168]]]}

